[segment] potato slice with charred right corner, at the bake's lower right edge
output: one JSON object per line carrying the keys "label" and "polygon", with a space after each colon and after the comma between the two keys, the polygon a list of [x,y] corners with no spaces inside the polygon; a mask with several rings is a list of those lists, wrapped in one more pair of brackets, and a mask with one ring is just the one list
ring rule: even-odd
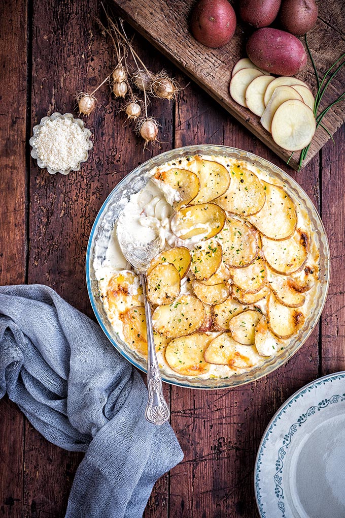
{"label": "potato slice with charred right corner, at the bake's lower right edge", "polygon": [[278,338],[290,338],[304,324],[305,315],[301,308],[283,306],[273,293],[267,300],[267,322],[272,333]]}

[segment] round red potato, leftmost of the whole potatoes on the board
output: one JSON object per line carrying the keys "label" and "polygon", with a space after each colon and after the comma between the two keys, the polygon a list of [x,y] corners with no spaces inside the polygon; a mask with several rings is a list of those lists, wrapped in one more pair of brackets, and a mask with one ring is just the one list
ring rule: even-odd
{"label": "round red potato, leftmost of the whole potatoes on the board", "polygon": [[192,10],[190,28],[206,47],[222,47],[235,32],[235,11],[228,0],[201,0]]}

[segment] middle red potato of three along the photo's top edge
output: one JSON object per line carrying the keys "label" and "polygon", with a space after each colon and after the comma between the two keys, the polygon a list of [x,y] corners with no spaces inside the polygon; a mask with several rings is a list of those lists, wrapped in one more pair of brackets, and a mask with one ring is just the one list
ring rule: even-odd
{"label": "middle red potato of three along the photo's top edge", "polygon": [[254,27],[267,27],[278,16],[281,0],[240,0],[239,15]]}

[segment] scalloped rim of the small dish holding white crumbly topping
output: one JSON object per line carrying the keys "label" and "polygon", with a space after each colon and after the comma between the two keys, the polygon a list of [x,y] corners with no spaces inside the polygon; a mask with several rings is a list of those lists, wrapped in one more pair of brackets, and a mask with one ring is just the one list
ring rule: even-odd
{"label": "scalloped rim of the small dish holding white crumbly topping", "polygon": [[[83,157],[83,160],[79,161],[76,167],[70,167],[70,168],[68,168],[66,170],[52,169],[47,164],[44,164],[44,162],[42,162],[40,160],[40,158],[39,158],[39,156],[37,154],[36,146],[35,146],[35,142],[36,142],[36,139],[37,139],[38,132],[39,132],[40,128],[42,126],[44,126],[44,124],[47,121],[49,121],[49,120],[53,121],[54,119],[57,119],[57,118],[71,119],[71,121],[73,121],[73,123],[78,124],[78,126],[82,129],[82,131],[83,131],[83,133],[85,134],[85,137],[86,137],[85,138],[85,140],[86,140],[86,150],[85,150],[85,156]],[[37,124],[36,126],[34,126],[34,128],[33,128],[33,136],[29,140],[29,144],[33,148],[31,150],[31,156],[33,157],[33,159],[35,159],[37,161],[38,167],[40,167],[41,169],[47,169],[50,175],[55,175],[57,172],[61,173],[62,175],[68,175],[68,173],[70,171],[79,171],[80,168],[81,168],[82,162],[86,162],[87,161],[87,159],[88,159],[88,151],[93,148],[93,143],[91,142],[91,140],[89,140],[90,137],[91,137],[91,132],[85,127],[84,121],[82,121],[81,119],[74,119],[72,113],[65,113],[64,115],[62,115],[61,113],[55,112],[50,117],[43,117],[41,119],[41,122],[39,124]]]}

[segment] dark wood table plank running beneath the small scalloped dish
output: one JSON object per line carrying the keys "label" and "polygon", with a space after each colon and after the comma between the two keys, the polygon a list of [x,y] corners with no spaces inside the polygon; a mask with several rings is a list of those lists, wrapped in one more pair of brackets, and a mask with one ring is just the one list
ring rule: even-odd
{"label": "dark wood table plank running beneath the small scalloped dish", "polygon": [[[109,41],[101,37],[96,3],[43,1],[34,3],[34,66],[32,125],[54,111],[71,112],[74,93],[92,91],[116,65]],[[68,30],[67,30],[68,27]],[[158,71],[161,57],[141,38],[138,52]],[[165,64],[165,63],[164,63]],[[43,88],[42,88],[43,85]],[[152,113],[160,128],[153,150],[125,125],[121,103],[109,88],[97,92],[98,107],[86,120],[94,149],[87,164],[67,177],[50,176],[31,163],[31,247],[29,282],[52,286],[69,303],[93,316],[85,283],[85,253],[96,214],[110,191],[132,168],[172,147],[172,110],[154,100]],[[73,474],[80,454],[68,453],[26,427],[25,516],[64,516]],[[167,512],[168,479],[162,479],[149,502],[147,516]]]}

